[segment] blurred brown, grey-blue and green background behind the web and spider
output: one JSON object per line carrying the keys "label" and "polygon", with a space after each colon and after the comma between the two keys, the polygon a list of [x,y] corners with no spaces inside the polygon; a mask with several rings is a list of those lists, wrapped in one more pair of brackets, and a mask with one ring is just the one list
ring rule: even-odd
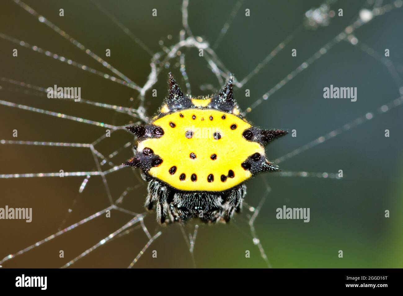
{"label": "blurred brown, grey-blue and green background behind the web and spider", "polygon": [[[169,47],[179,39],[182,29],[181,1],[97,2],[125,24],[152,52],[162,51],[160,40],[163,41],[162,46]],[[111,56],[105,59],[138,85],[147,81],[151,56],[90,1],[27,0],[26,3],[96,54],[103,57],[105,49],[111,49]],[[332,9],[343,8],[343,17],[334,17],[328,27],[317,30],[301,27],[305,12],[321,3],[316,0],[242,3],[216,49],[220,60],[238,80],[251,72],[289,34],[294,32],[294,35],[283,51],[243,88],[235,90],[235,98],[241,108],[249,107],[341,32],[355,20],[366,1],[338,1]],[[234,5],[235,1],[190,1],[189,25],[193,34],[214,44]],[[60,8],[64,9],[64,17],[58,15]],[[152,17],[153,8],[158,11],[157,17]],[[251,11],[250,17],[245,17],[246,8]],[[108,72],[13,1],[2,1],[0,14],[2,33]],[[399,80],[403,70],[402,16],[402,9],[395,9],[354,32],[359,44],[367,44],[381,54],[385,48],[390,50],[389,59],[396,66]],[[172,39],[168,39],[168,35]],[[18,57],[12,57],[14,48],[18,49]],[[297,57],[291,57],[293,48],[297,49]],[[81,87],[81,96],[85,99],[136,106],[137,91],[4,39],[0,39],[0,51],[2,77],[42,87],[54,84]],[[211,84],[214,89],[220,87],[195,48],[185,48],[182,52],[186,55],[186,70],[193,95],[210,92],[200,89],[201,85]],[[168,71],[174,73],[182,89],[185,89],[179,69],[171,63],[153,87],[158,90],[158,97],[152,97],[150,92],[145,96],[149,115],[156,111],[166,93]],[[322,89],[330,84],[357,87],[357,101],[324,99]],[[131,120],[126,115],[109,110],[16,92],[15,86],[4,82],[0,85],[0,99],[5,101],[109,124],[123,125]],[[245,89],[250,89],[250,97],[245,97]],[[297,130],[297,137],[289,135],[268,146],[267,155],[273,160],[367,112],[375,111],[399,95],[399,87],[384,64],[357,46],[342,41],[264,101],[247,118],[263,128]],[[105,132],[104,128],[97,126],[6,106],[0,106],[0,118],[0,139],[6,140],[15,140],[12,138],[14,129],[18,130],[20,141],[67,143],[91,143]],[[391,132],[389,138],[384,137],[385,129]],[[108,155],[131,139],[127,132],[115,132],[96,148]],[[343,179],[264,174],[248,182],[245,201],[253,207],[266,194],[265,182],[271,188],[255,222],[256,232],[271,265],[279,268],[402,267],[402,144],[402,110],[397,107],[280,164],[283,171],[332,173],[342,169]],[[113,160],[120,164],[131,154],[130,148],[124,149]],[[96,170],[91,152],[86,148],[0,145],[0,155],[0,174],[58,172],[60,169],[65,172]],[[0,179],[0,207],[33,208],[31,223],[0,221],[0,258],[54,234],[70,208],[73,211],[63,227],[107,207],[108,199],[101,178],[91,177],[83,193],[79,193],[82,181],[82,177]],[[114,199],[128,186],[141,184],[135,191],[129,192],[122,207],[143,212],[146,184],[139,182],[129,168],[108,175],[108,184]],[[283,205],[309,207],[310,222],[277,220],[276,208]],[[389,218],[384,217],[386,209],[391,213]],[[252,242],[247,224],[248,213],[245,206],[243,213],[228,225],[200,225],[194,247],[196,267],[267,266]],[[112,211],[111,218],[102,216],[94,219],[7,261],[4,267],[60,267],[123,226],[130,218],[130,215]],[[162,236],[150,246],[135,267],[192,267],[191,255],[179,226],[161,229],[154,220],[155,214],[148,214],[145,224],[153,234],[162,230]],[[193,232],[194,224],[187,224],[185,232]],[[98,248],[73,266],[127,267],[146,242],[145,234],[137,229]],[[59,258],[59,250],[64,250],[63,259]],[[152,258],[152,250],[157,250],[157,258]],[[246,250],[250,250],[250,258],[245,258]],[[343,250],[343,259],[338,258],[339,250]]]}

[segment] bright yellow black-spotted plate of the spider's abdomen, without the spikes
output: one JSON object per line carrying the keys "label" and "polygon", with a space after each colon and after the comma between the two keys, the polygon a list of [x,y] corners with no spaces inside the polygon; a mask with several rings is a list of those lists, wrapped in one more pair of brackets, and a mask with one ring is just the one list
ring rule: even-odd
{"label": "bright yellow black-spotted plate of the spider's abdomen, without the spikes", "polygon": [[242,137],[251,125],[233,114],[212,109],[185,109],[153,122],[164,130],[160,138],[139,142],[137,151],[150,148],[162,163],[151,176],[187,191],[223,191],[251,177],[241,163],[264,147]]}

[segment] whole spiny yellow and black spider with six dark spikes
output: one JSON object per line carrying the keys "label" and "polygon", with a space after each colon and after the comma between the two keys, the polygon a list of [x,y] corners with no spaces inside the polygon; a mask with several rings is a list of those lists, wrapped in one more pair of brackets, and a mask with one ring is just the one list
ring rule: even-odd
{"label": "whole spiny yellow and black spider with six dark spikes", "polygon": [[168,95],[152,121],[126,127],[138,145],[124,165],[141,169],[145,208],[160,224],[228,222],[241,211],[245,181],[278,170],[264,146],[287,131],[251,126],[233,98],[233,79],[214,95],[193,98],[169,73]]}

